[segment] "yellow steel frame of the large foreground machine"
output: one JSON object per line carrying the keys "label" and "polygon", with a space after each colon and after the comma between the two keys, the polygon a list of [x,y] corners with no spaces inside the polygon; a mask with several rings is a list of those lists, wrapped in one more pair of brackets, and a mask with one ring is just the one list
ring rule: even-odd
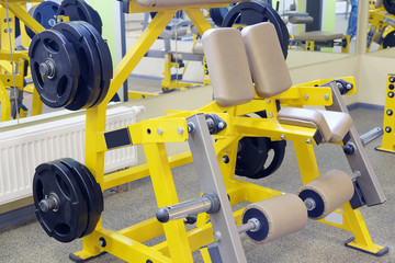
{"label": "yellow steel frame of the large foreground machine", "polygon": [[[236,165],[237,142],[244,136],[264,136],[274,140],[283,138],[292,140],[294,142],[303,182],[307,183],[319,176],[313,150],[313,136],[316,130],[280,125],[275,119],[276,101],[280,101],[282,105],[292,106],[331,105],[332,96],[330,88],[315,87],[321,85],[330,80],[318,80],[298,84],[271,99],[263,100],[256,96],[251,102],[234,107],[221,107],[216,102],[213,102],[198,111],[169,111],[163,117],[128,125],[126,128],[132,135],[133,145],[142,144],[144,146],[147,163],[104,176],[104,152],[109,150],[104,140],[104,134],[108,132],[105,130],[105,108],[108,102],[126,80],[137,62],[148,52],[150,45],[178,10],[185,10],[201,34],[211,27],[201,13],[201,8],[206,7],[180,7],[178,9],[166,10],[154,8],[143,9],[136,5],[134,1],[131,2],[131,10],[135,12],[158,11],[158,13],[126,56],[116,66],[114,78],[105,100],[100,105],[87,110],[86,165],[93,173],[103,191],[150,175],[158,207],[177,204],[178,196],[171,168],[190,163],[193,161],[193,158],[190,152],[168,157],[165,142],[188,140],[187,117],[198,113],[215,113],[228,124],[224,130],[216,135],[215,151],[232,205],[244,201],[258,202],[281,194],[279,191],[235,179],[234,171]],[[353,78],[345,78],[345,80],[354,84]],[[356,89],[353,89],[350,94],[354,92]],[[263,110],[267,111],[268,118],[240,117],[245,114]],[[159,127],[162,129],[160,135],[155,133]],[[180,133],[180,129],[183,130],[183,133]],[[313,142],[308,144],[307,141]],[[228,156],[230,160],[227,163],[222,161],[225,155]],[[349,204],[346,204],[343,210],[338,211],[342,214],[342,225],[334,225],[325,220],[321,221],[351,231],[356,237],[354,247],[371,253],[376,253],[382,247],[373,244],[359,209],[353,210],[349,207]],[[241,210],[234,213],[237,224],[240,224],[241,213]],[[148,260],[153,262],[192,262],[192,251],[213,242],[213,230],[211,224],[207,224],[205,219],[206,215],[200,215],[196,228],[190,231],[185,231],[181,219],[162,225],[155,218],[151,218],[119,231],[104,229],[100,220],[95,230],[83,238],[83,249],[76,252],[75,256],[87,260],[102,252],[109,252],[127,262],[147,262]],[[160,235],[166,236],[165,242],[154,247],[147,247],[143,243]],[[105,239],[105,247],[100,245],[100,238]],[[203,250],[202,254],[208,262],[210,256],[207,252]]]}

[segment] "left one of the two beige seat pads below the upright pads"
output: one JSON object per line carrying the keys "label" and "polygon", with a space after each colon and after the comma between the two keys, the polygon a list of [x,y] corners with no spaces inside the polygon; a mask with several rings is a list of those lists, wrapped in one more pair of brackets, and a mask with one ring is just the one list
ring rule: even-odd
{"label": "left one of the two beige seat pads below the upright pads", "polygon": [[[305,128],[316,128],[323,136],[323,141],[329,141],[332,134],[324,115],[312,108],[283,107],[278,114],[280,124],[301,126]],[[320,141],[318,141],[320,142]]]}

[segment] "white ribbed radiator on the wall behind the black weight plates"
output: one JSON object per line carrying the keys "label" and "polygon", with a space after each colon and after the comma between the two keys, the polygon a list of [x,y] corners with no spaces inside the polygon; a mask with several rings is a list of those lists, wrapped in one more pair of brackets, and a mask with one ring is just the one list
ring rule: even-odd
{"label": "white ribbed radiator on the wall behind the black weight plates", "polygon": [[[142,107],[108,111],[106,129],[136,122]],[[0,133],[0,205],[32,195],[35,168],[43,162],[70,157],[84,162],[86,115]],[[105,152],[104,171],[136,164],[135,147]]]}

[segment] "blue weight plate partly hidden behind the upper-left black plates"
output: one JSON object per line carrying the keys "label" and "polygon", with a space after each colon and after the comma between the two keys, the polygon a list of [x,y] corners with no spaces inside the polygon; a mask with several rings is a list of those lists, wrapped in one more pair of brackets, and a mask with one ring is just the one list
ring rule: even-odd
{"label": "blue weight plate partly hidden behind the upper-left black plates", "polygon": [[[56,13],[59,4],[53,1],[42,2],[29,10],[29,14],[35,19],[44,28],[49,30],[56,24]],[[35,33],[25,25],[25,30],[30,38],[33,38]]]}

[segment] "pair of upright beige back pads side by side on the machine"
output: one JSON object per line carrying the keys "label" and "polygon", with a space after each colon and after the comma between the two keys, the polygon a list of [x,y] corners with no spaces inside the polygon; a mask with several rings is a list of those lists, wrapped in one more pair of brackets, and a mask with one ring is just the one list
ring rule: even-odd
{"label": "pair of upright beige back pads side by side on the machine", "polygon": [[[214,98],[221,106],[235,106],[280,94],[292,81],[275,28],[264,22],[236,28],[214,28],[202,36]],[[252,84],[252,79],[255,87]]]}

